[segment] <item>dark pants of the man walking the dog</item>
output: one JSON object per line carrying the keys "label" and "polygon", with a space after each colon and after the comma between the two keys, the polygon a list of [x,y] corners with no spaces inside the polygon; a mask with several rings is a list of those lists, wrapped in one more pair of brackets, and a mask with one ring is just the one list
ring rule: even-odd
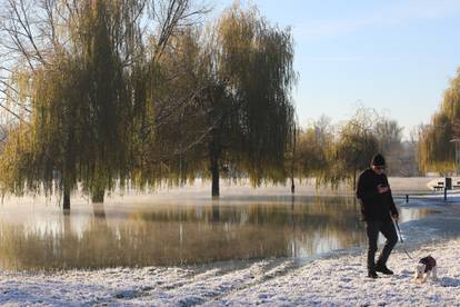
{"label": "dark pants of the man walking the dog", "polygon": [[393,250],[393,247],[398,242],[398,235],[391,219],[368,220],[366,224],[369,240],[368,270],[373,270],[376,268],[377,240],[379,238],[379,232],[382,232],[387,239],[383,250],[380,252],[379,260],[377,261],[377,264],[381,266],[387,265],[388,257],[390,257],[391,250]]}

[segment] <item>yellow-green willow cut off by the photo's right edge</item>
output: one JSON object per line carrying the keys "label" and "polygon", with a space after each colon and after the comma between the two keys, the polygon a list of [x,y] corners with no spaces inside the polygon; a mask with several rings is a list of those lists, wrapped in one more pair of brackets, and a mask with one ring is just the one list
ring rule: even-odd
{"label": "yellow-green willow cut off by the photo's right edge", "polygon": [[456,127],[460,122],[460,70],[444,91],[439,110],[432,116],[431,123],[419,131],[418,161],[422,172],[451,172],[456,169],[454,146],[450,142],[459,138]]}

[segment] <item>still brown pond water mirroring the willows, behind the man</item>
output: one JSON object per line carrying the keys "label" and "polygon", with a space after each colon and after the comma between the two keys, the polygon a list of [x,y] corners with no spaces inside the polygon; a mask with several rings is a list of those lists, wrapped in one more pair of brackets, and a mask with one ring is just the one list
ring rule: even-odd
{"label": "still brown pond water mirroring the willows, behind the man", "polygon": [[[172,266],[309,257],[366,241],[350,198],[1,208],[0,266],[19,269]],[[427,210],[403,210],[402,220]]]}

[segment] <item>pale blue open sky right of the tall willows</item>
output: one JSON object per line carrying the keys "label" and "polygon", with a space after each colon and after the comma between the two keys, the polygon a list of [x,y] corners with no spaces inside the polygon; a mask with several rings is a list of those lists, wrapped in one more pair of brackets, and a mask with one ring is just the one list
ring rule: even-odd
{"label": "pale blue open sky right of the tall willows", "polygon": [[[231,0],[210,0],[216,11]],[[246,3],[241,1],[241,3]],[[359,103],[409,129],[428,123],[460,66],[460,0],[253,0],[296,41],[302,123]]]}

